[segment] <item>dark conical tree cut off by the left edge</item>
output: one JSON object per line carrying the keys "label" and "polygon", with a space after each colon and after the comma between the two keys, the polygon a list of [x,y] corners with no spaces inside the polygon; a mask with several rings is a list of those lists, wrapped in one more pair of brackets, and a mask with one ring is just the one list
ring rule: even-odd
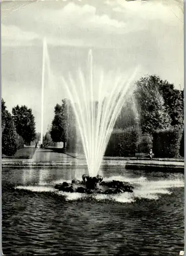
{"label": "dark conical tree cut off by the left edge", "polygon": [[2,99],[2,154],[12,156],[17,151],[17,134],[11,114]]}

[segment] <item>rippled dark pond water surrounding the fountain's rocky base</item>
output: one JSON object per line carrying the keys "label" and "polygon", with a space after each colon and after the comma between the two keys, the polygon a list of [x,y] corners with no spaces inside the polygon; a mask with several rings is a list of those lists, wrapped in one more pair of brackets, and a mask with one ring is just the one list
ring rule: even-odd
{"label": "rippled dark pond water surrounding the fountain's rocky base", "polygon": [[184,176],[104,168],[133,194],[64,193],[55,184],[87,168],[3,168],[5,254],[177,255],[183,249]]}

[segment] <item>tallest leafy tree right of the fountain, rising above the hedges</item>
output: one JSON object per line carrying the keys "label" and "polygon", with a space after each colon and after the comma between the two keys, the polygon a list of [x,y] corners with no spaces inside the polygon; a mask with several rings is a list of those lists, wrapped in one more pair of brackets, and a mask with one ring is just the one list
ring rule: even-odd
{"label": "tallest leafy tree right of the fountain, rising above the hedges", "polygon": [[135,97],[140,113],[143,133],[152,134],[157,129],[166,129],[171,124],[164,98],[152,76],[142,77],[136,82]]}

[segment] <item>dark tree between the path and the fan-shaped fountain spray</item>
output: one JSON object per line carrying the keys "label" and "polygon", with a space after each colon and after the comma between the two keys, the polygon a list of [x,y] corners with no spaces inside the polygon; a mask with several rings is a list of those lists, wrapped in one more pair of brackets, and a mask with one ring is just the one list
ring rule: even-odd
{"label": "dark tree between the path and the fan-shaped fountain spray", "polygon": [[66,147],[68,137],[68,104],[62,100],[62,105],[56,104],[55,116],[52,120],[50,136],[53,142],[63,142]]}

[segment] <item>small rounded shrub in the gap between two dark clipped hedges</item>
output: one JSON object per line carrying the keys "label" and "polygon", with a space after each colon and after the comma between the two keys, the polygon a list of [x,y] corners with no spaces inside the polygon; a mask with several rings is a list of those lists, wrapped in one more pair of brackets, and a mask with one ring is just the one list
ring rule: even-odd
{"label": "small rounded shrub in the gap between two dark clipped hedges", "polygon": [[150,148],[152,148],[153,137],[149,134],[144,134],[139,137],[137,142],[138,153],[148,153]]}

